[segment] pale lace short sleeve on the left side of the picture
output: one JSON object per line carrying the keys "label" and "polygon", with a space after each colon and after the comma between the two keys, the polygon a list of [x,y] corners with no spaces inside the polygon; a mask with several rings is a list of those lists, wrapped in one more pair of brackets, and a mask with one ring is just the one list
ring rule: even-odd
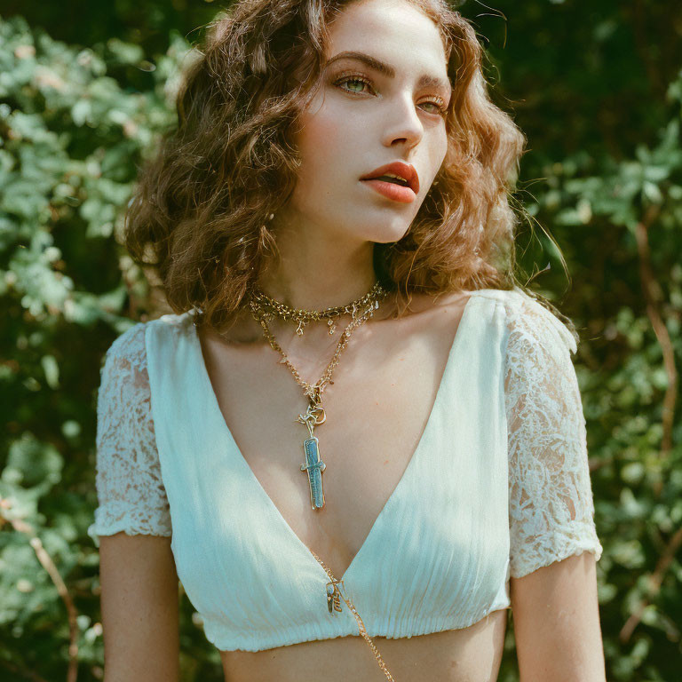
{"label": "pale lace short sleeve on the left side of the picture", "polygon": [[107,350],[97,402],[99,506],[88,535],[171,535],[171,516],[150,408],[145,325],[128,329]]}

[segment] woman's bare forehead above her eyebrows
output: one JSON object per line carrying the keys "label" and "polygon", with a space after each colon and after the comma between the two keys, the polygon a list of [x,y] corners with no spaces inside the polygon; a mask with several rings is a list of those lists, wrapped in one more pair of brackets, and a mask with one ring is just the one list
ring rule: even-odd
{"label": "woman's bare forehead above her eyebrows", "polygon": [[345,6],[329,26],[327,59],[341,52],[369,53],[399,71],[447,75],[439,28],[407,0],[360,0]]}

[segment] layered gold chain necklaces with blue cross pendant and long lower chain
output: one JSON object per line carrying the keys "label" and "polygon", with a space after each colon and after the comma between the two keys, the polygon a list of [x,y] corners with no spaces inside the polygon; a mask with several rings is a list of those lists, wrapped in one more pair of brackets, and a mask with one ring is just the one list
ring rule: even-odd
{"label": "layered gold chain necklaces with blue cross pendant and long lower chain", "polygon": [[[368,294],[353,301],[351,304],[338,306],[335,308],[327,308],[324,311],[307,311],[302,309],[294,309],[288,305],[284,305],[280,301],[276,301],[274,298],[266,296],[266,294],[264,294],[262,291],[259,291],[258,289],[254,288],[252,290],[249,300],[251,314],[263,328],[263,334],[266,337],[268,343],[282,356],[280,362],[287,365],[294,379],[296,379],[296,383],[303,388],[305,396],[308,399],[308,407],[305,411],[305,414],[298,415],[296,421],[300,422],[301,424],[305,424],[310,434],[310,438],[304,440],[303,443],[305,464],[301,464],[301,471],[307,472],[308,475],[310,503],[313,507],[313,510],[321,509],[325,503],[321,474],[327,468],[327,465],[321,461],[319,441],[314,435],[314,427],[319,424],[324,424],[327,419],[327,415],[325,414],[324,408],[321,404],[322,392],[328,384],[334,384],[334,382],[331,380],[332,372],[336,368],[338,364],[338,357],[347,345],[348,339],[353,333],[353,330],[360,327],[363,322],[369,320],[369,318],[372,317],[374,311],[379,307],[379,300],[383,299],[387,294],[388,292],[377,282],[374,287],[370,289]],[[358,316],[358,310],[362,309],[364,306],[367,307],[365,307],[364,312]],[[282,346],[277,343],[273,333],[267,326],[267,319],[272,319],[274,316],[277,316],[284,320],[296,321],[298,323],[296,330],[298,336],[303,336],[303,330],[305,328],[306,322],[328,319],[329,334],[331,335],[334,333],[334,329],[336,329],[334,318],[340,317],[340,315],[344,313],[351,314],[353,320],[342,332],[336,351],[329,361],[327,369],[325,369],[325,371],[322,373],[322,376],[314,384],[307,383],[300,377],[293,364],[291,364],[286,353],[284,353],[282,350]],[[353,605],[353,602],[345,596],[343,580],[337,580],[325,563],[320,559],[320,557],[317,556],[317,554],[315,554],[313,550],[310,549],[310,547],[308,547],[308,551],[310,551],[310,553],[321,565],[321,567],[324,569],[324,572],[329,577],[329,583],[325,584],[329,615],[334,615],[335,611],[341,611],[341,599],[343,599],[346,607],[348,607],[356,623],[358,623],[358,630],[361,637],[367,642],[369,648],[372,650],[372,653],[377,659],[379,668],[384,672],[386,678],[390,680],[390,682],[395,682],[393,676],[386,668],[384,659],[381,657],[381,654],[379,654],[377,646],[375,646],[374,642],[369,637],[367,628],[365,627],[365,623],[362,621],[361,615]]]}

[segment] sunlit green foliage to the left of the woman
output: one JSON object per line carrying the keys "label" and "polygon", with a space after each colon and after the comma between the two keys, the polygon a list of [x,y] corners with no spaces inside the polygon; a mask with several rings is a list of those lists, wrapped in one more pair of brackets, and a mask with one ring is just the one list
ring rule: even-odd
{"label": "sunlit green foliage to the left of the woman", "polygon": [[[152,64],[138,45],[81,49],[20,17],[0,20],[3,679],[64,678],[71,615],[81,678],[102,678],[99,558],[86,535],[95,389],[103,349],[147,295],[115,237],[139,163],[175,121],[171,97],[189,49],[176,32]],[[108,75],[121,64],[145,69],[144,91]],[[191,615],[187,623],[202,642]]]}

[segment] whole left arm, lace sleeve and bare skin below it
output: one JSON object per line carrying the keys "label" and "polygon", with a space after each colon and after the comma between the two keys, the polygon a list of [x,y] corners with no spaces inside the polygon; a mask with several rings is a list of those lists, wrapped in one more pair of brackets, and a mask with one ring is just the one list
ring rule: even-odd
{"label": "whole left arm, lace sleeve and bare skin below it", "polygon": [[106,682],[177,680],[178,575],[156,450],[144,326],[107,351],[97,408],[99,545]]}

